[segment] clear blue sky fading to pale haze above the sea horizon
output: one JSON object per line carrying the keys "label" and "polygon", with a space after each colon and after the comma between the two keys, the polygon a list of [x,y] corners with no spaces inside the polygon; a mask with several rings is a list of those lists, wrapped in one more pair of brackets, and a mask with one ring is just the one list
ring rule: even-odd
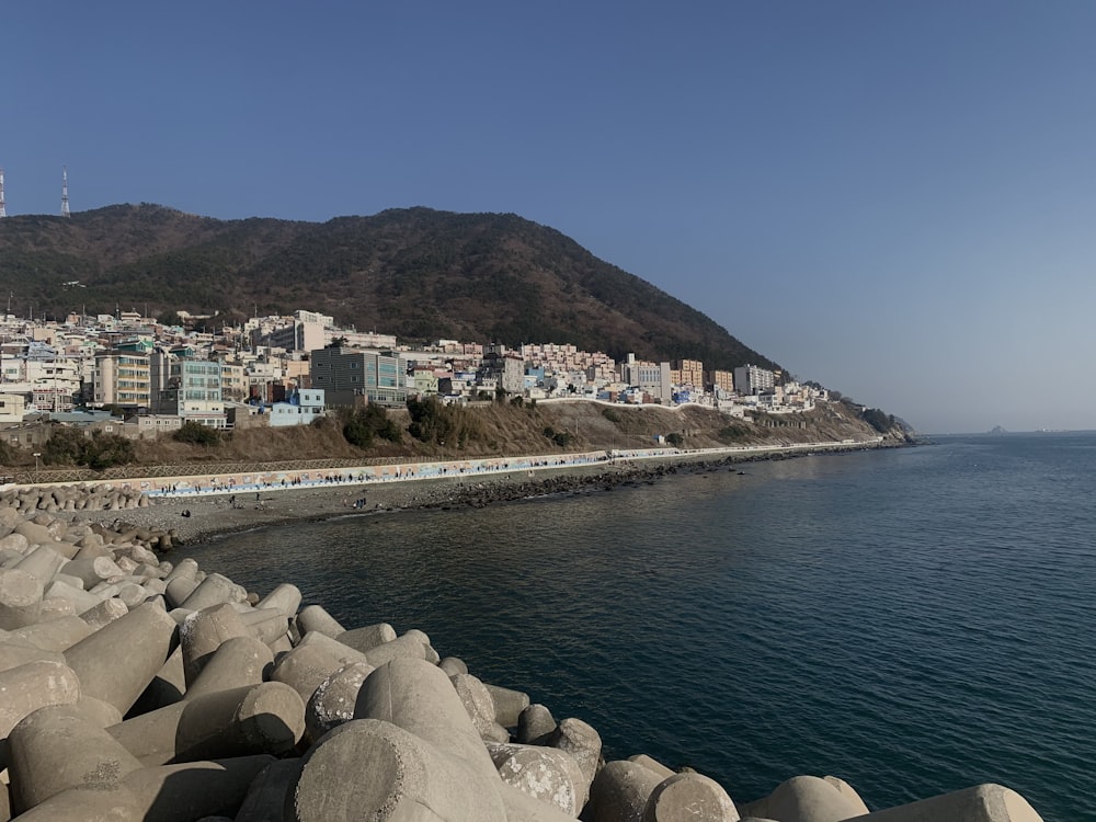
{"label": "clear blue sky fading to pale haze above the sea horizon", "polygon": [[513,212],[923,432],[1092,429],[1094,44],[1089,0],[11,2],[0,167],[9,215],[62,165],[73,212]]}

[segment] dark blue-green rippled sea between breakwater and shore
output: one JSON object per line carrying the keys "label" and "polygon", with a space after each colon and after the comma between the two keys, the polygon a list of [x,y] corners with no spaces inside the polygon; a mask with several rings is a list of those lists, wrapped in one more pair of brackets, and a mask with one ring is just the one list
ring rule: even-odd
{"label": "dark blue-green rippled sea between breakwater and shore", "polygon": [[1096,820],[1096,433],[678,473],[189,550],[347,627],[421,628],[609,758],[738,801],[797,774],[871,809],[982,781]]}

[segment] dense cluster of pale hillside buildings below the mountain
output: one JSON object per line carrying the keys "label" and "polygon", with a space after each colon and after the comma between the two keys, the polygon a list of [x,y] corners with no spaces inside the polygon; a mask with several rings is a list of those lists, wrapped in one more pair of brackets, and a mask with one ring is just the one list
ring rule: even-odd
{"label": "dense cluster of pale hillside buildings below the mountain", "polygon": [[115,433],[145,437],[184,421],[218,429],[308,424],[332,407],[402,407],[409,396],[423,395],[446,402],[499,396],[694,402],[739,415],[750,407],[803,411],[824,399],[819,388],[753,365],[709,370],[699,361],[651,363],[633,355],[618,363],[561,343],[510,349],[438,340],[412,347],[392,335],[339,328],[313,311],[209,330],[215,326],[216,318],[185,312],[174,326],[136,311],[72,315],[64,322],[7,316],[0,321],[0,424],[110,420]]}

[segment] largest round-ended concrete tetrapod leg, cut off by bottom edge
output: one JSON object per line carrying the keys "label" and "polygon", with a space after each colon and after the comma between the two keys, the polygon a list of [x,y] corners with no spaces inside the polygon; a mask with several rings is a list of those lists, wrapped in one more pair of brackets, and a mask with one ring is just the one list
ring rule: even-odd
{"label": "largest round-ended concrete tetrapod leg, cut off by bottom edge", "polygon": [[507,822],[475,766],[379,719],[354,719],[321,738],[285,810],[295,822]]}

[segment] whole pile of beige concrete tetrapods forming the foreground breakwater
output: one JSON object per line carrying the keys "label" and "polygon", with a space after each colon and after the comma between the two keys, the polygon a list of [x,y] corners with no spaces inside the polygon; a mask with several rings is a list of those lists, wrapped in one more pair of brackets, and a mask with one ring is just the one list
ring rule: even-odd
{"label": "whole pile of beige concrete tetrapods forming the foreground breakwater", "polygon": [[42,499],[0,499],[0,820],[1039,819],[997,785],[870,810],[836,776],[747,802],[642,752],[605,762],[582,718],[420,630],[341,625],[290,582],[247,591]]}

